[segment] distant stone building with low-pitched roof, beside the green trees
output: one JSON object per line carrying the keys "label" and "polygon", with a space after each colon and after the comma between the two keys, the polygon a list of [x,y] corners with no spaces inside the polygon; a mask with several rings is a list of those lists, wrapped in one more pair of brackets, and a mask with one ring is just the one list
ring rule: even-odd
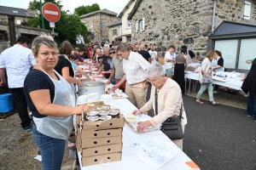
{"label": "distant stone building with low-pitched roof, beside the green trees", "polygon": [[113,11],[104,8],[90,14],[84,14],[80,16],[80,19],[87,26],[87,30],[94,35],[92,41],[108,41],[108,26],[119,20],[116,15]]}

